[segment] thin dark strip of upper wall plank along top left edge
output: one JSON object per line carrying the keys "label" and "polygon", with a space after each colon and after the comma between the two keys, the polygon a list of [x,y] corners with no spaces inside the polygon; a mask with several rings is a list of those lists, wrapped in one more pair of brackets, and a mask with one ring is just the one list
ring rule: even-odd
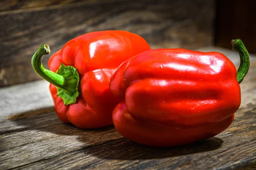
{"label": "thin dark strip of upper wall plank along top left edge", "polygon": [[80,4],[97,4],[102,2],[113,2],[120,0],[1,0],[0,11],[4,10],[16,10],[16,9],[27,9],[44,6],[55,6],[72,3]]}

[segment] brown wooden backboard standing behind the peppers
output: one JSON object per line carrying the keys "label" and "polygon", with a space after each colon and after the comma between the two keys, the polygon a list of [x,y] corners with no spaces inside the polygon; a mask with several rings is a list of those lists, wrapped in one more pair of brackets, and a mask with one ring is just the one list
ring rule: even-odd
{"label": "brown wooden backboard standing behind the peppers", "polygon": [[[31,57],[42,43],[52,54],[81,34],[126,30],[152,48],[194,49],[213,42],[213,0],[74,3],[0,12],[0,87],[41,79]],[[207,38],[206,38],[207,37]],[[46,68],[49,56],[43,57]]]}

